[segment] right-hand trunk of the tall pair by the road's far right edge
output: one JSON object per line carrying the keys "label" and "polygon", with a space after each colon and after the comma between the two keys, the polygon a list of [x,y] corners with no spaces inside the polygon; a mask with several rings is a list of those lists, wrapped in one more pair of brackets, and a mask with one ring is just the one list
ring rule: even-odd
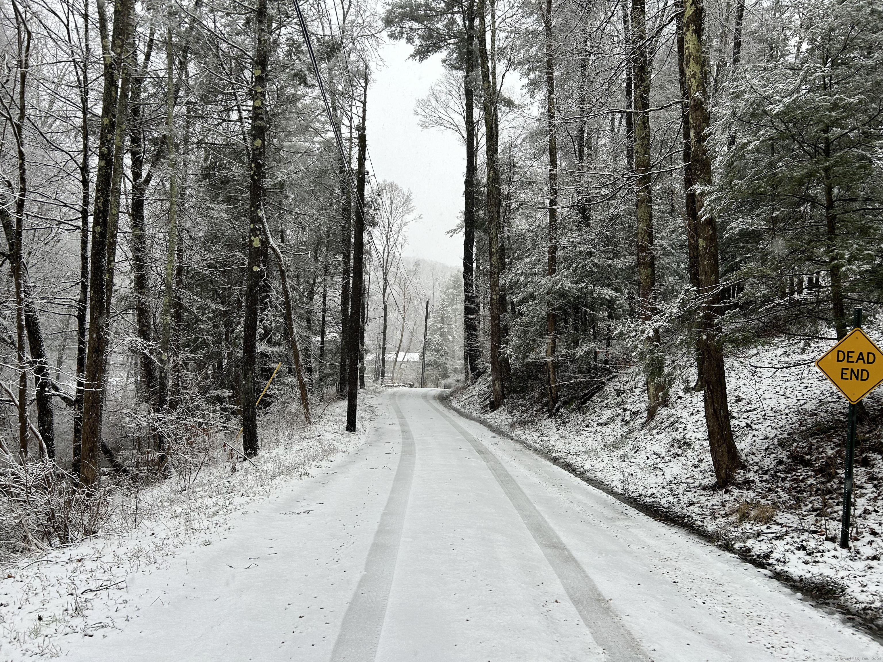
{"label": "right-hand trunk of the tall pair by the road's far right edge", "polygon": [[[500,169],[499,169],[499,120],[497,117],[496,73],[491,71],[491,57],[487,48],[486,0],[478,0],[479,15],[479,62],[481,65],[482,104],[485,116],[485,158],[487,170],[487,244],[489,253],[489,289],[490,289],[490,336],[491,336],[491,408],[502,407],[505,393],[502,375],[502,297],[500,292],[500,276],[502,275],[502,255],[500,240],[502,235],[500,219]],[[494,33],[490,34],[491,51],[494,48]]]}

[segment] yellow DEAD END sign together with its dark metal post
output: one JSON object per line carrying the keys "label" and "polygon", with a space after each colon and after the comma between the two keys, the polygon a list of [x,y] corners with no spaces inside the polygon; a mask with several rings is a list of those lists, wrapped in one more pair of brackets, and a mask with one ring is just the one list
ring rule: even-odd
{"label": "yellow DEAD END sign together with its dark metal post", "polygon": [[819,370],[849,400],[846,433],[846,470],[843,477],[843,516],[840,546],[849,549],[849,520],[852,512],[852,468],[856,453],[856,410],[858,403],[883,382],[883,350],[864,335],[862,309],[856,308],[853,328],[845,338],[816,361]]}

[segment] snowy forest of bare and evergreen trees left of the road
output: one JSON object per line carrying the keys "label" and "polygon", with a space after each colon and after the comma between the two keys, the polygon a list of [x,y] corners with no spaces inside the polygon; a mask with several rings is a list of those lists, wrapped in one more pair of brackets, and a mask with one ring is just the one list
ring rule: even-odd
{"label": "snowy forest of bare and evergreen trees left of the road", "polygon": [[358,4],[304,11],[4,4],[7,456],[92,485],[114,448],[162,472],[239,418],[254,455],[276,364],[306,420],[358,390],[383,28]]}

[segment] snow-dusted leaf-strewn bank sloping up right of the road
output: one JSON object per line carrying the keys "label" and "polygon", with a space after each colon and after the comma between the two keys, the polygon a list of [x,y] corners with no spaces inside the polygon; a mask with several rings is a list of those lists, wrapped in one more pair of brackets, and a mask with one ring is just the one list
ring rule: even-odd
{"label": "snow-dusted leaf-strewn bank sloping up right of the road", "polygon": [[[879,338],[878,328],[869,330]],[[613,493],[706,534],[820,601],[883,629],[883,388],[858,426],[851,548],[840,534],[847,402],[813,365],[831,342],[775,339],[728,359],[728,398],[744,469],[718,490],[702,395],[675,384],[645,424],[638,370],[616,375],[581,410],[549,418],[542,392],[487,410],[487,379],[455,407],[546,452]],[[796,367],[783,367],[792,366]]]}

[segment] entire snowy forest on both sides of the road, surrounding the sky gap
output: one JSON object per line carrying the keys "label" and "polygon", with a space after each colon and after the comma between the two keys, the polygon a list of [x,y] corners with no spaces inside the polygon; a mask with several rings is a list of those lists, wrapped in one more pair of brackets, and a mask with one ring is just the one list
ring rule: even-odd
{"label": "entire snowy forest on both sides of the road, surrounding the sky gap", "polygon": [[[279,363],[306,421],[345,397],[355,431],[430,301],[429,385],[489,375],[490,407],[555,415],[638,366],[650,420],[689,382],[723,486],[728,348],[842,337],[883,291],[871,0],[9,0],[0,22],[0,434],[79,485],[118,448],[162,473],[194,427],[257,454]],[[369,172],[384,34],[447,69],[416,112],[464,148],[457,274],[403,257],[419,209]]]}

